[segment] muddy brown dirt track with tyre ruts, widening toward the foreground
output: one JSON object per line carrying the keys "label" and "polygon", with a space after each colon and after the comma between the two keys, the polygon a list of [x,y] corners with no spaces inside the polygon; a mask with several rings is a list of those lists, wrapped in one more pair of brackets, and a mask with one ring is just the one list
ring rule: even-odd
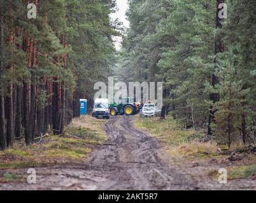
{"label": "muddy brown dirt track with tyre ruts, widening toward the foreground", "polygon": [[[132,117],[113,117],[104,126],[109,139],[90,159],[72,166],[37,170],[37,184],[3,185],[4,190],[195,190],[191,177],[168,167],[160,145],[132,126]],[[22,172],[22,171],[20,171]],[[24,169],[25,173],[25,169]]]}

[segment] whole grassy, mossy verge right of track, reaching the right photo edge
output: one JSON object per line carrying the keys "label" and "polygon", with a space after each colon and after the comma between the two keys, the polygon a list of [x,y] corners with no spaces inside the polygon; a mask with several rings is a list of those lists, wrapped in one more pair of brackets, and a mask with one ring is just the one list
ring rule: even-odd
{"label": "whole grassy, mossy verge right of track, reaching the right photo edge", "polygon": [[[208,161],[214,160],[227,160],[230,155],[224,155],[218,153],[218,148],[222,150],[227,149],[226,146],[218,146],[213,141],[199,142],[192,140],[194,136],[194,129],[183,129],[178,121],[173,120],[171,117],[160,120],[159,118],[140,118],[136,117],[135,125],[145,131],[150,132],[154,137],[159,139],[166,147],[166,152],[169,157],[181,158],[183,162],[193,163],[201,162],[204,167],[207,166]],[[199,137],[203,134],[199,134]],[[198,134],[197,134],[198,137]],[[232,150],[236,150],[234,146],[229,149],[230,153]],[[173,159],[172,159],[173,160]],[[180,162],[180,159],[178,159]],[[232,167],[225,166],[228,173],[228,180],[234,180],[239,178],[249,178],[250,176],[256,176],[256,164],[255,157],[248,155],[243,159],[243,162],[236,163]],[[203,171],[202,171],[203,172]],[[218,178],[220,174],[215,169],[205,168],[203,172],[210,177]],[[218,180],[218,179],[217,179]]]}

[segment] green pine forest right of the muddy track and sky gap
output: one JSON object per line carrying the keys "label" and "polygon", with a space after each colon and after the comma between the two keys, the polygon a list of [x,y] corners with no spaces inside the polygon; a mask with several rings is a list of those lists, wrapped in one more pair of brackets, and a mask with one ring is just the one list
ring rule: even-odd
{"label": "green pine forest right of the muddy track and sky gap", "polygon": [[255,143],[256,2],[131,0],[129,6],[119,76],[163,81],[162,111],[185,128],[206,129],[229,146]]}

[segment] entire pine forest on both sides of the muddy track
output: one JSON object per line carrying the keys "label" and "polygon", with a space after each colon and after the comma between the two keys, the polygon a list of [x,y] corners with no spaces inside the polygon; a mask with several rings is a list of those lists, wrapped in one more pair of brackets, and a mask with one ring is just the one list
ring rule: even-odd
{"label": "entire pine forest on both sides of the muddy track", "polygon": [[[94,83],[164,82],[162,119],[229,147],[255,143],[256,3],[129,0],[117,53],[111,0],[0,0],[0,149],[64,126],[93,100]],[[27,18],[27,4],[37,8]],[[227,18],[218,15],[227,5]]]}

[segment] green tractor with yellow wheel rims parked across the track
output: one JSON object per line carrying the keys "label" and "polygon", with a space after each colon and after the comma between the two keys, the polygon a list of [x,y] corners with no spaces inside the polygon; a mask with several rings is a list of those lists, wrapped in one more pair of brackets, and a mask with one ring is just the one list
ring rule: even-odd
{"label": "green tractor with yellow wheel rims parked across the track", "polygon": [[119,98],[118,103],[110,103],[110,115],[134,115],[138,110],[133,97]]}

